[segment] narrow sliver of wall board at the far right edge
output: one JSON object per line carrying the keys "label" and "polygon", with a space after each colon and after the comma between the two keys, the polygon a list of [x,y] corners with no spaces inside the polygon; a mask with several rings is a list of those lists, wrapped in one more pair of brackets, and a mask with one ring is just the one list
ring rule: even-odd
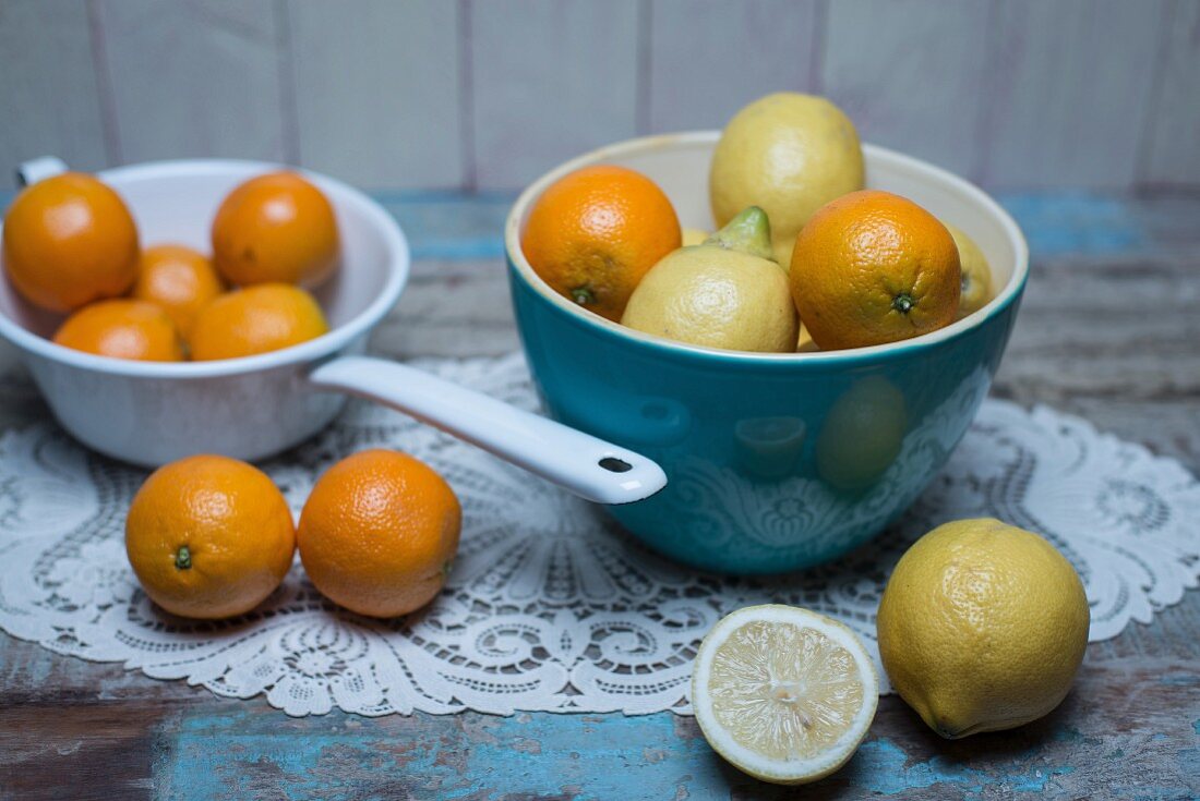
{"label": "narrow sliver of wall board at the far right edge", "polygon": [[1151,183],[1200,185],[1200,2],[1176,0],[1163,54],[1162,84],[1148,126]]}

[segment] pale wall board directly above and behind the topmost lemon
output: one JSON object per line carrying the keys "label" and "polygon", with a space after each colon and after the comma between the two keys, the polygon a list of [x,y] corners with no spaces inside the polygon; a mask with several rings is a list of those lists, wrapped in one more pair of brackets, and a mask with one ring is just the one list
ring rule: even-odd
{"label": "pale wall board directly above and behind the topmost lemon", "polygon": [[816,0],[654,0],[649,130],[720,128],[774,91],[815,91]]}

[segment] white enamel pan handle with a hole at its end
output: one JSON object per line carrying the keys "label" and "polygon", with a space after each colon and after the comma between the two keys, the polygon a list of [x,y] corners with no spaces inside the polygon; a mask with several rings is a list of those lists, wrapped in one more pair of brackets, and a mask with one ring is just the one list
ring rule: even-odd
{"label": "white enamel pan handle with a hole at its end", "polygon": [[598,504],[630,504],[662,489],[658,463],[419,369],[342,356],[308,374],[318,390],[376,401],[478,445]]}

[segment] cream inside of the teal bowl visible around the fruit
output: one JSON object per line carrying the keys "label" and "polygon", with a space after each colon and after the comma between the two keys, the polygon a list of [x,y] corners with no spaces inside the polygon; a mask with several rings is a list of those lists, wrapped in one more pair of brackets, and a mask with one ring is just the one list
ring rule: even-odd
{"label": "cream inside of the teal bowl visible around the fruit", "polygon": [[[718,131],[700,131],[634,139],[592,151],[548,173],[530,186],[518,201],[512,221],[516,224],[510,224],[508,231],[510,253],[517,254],[518,231],[523,229],[538,195],[566,173],[588,164],[618,164],[648,175],[671,198],[685,228],[713,230],[708,168],[719,137]],[[863,145],[863,151],[868,187],[904,195],[940,219],[958,225],[988,258],[992,270],[992,300],[967,321],[985,315],[989,307],[1015,291],[1015,284],[1026,269],[1027,251],[1016,224],[995,200],[967,181],[916,158],[875,145]],[[521,272],[542,295],[554,302],[562,300],[536,277],[523,258],[517,263]],[[565,300],[560,305],[576,314],[606,323]],[[806,354],[794,356],[803,359]]]}

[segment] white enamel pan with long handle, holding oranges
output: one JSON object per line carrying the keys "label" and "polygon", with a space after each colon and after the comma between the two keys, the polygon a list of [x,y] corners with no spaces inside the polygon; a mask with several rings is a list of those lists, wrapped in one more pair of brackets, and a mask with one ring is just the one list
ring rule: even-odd
{"label": "white enamel pan with long handle, holding oranges", "polygon": [[[25,182],[62,171],[53,158],[19,170]],[[206,252],[221,200],[277,164],[192,159],[134,164],[98,177],[121,194],[143,245]],[[137,362],[50,342],[61,317],[0,281],[0,336],[76,439],[107,456],[157,466],[193,453],[262,459],[324,428],[347,393],[398,409],[589,500],[625,504],[661,489],[654,462],[623,447],[396,362],[361,355],[409,273],[395,219],[358,189],[305,173],[329,198],[342,237],[336,278],[317,293],[330,332],[269,354],[210,362]]]}

